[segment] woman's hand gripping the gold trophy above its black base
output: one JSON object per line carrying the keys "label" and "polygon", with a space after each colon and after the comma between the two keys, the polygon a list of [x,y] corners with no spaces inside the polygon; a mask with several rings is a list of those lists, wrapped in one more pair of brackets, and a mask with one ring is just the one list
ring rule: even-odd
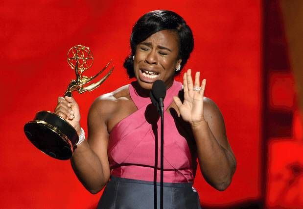
{"label": "woman's hand gripping the gold trophy above its black base", "polygon": [[78,134],[81,133],[79,106],[72,97],[59,97],[55,114],[68,121]]}

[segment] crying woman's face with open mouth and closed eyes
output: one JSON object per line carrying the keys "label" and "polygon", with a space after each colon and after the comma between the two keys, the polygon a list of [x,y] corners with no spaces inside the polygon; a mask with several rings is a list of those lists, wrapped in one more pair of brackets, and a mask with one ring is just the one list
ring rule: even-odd
{"label": "crying woman's face with open mouth and closed eyes", "polygon": [[140,86],[151,89],[153,82],[161,79],[169,88],[175,69],[181,63],[179,38],[175,31],[161,30],[137,45],[134,59],[135,76]]}

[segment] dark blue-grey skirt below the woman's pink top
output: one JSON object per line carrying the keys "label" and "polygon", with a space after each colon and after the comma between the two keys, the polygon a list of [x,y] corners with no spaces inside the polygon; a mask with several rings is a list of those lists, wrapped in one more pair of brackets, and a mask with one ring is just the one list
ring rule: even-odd
{"label": "dark blue-grey skirt below the woman's pink top", "polygon": [[[156,202],[160,209],[160,183],[112,176],[97,209],[156,209]],[[163,183],[163,209],[201,209],[192,183]]]}

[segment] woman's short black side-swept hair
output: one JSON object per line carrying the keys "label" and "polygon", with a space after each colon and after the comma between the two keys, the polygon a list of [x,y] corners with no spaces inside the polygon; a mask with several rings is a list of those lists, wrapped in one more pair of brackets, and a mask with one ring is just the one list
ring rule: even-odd
{"label": "woman's short black side-swept hair", "polygon": [[[173,11],[155,10],[140,17],[133,27],[130,38],[131,54],[125,58],[123,64],[129,78],[135,77],[133,56],[137,45],[161,30],[174,30],[179,35],[179,58],[182,59],[181,69],[184,67],[194,46],[190,27],[180,15]],[[180,71],[176,71],[175,74],[179,74]]]}

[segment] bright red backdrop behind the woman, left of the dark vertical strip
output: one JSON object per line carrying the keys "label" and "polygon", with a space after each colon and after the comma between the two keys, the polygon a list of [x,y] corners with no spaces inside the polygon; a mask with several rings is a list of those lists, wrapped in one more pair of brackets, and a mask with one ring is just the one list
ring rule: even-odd
{"label": "bright red backdrop behind the woman, left of the dark vertical strip", "polygon": [[[98,72],[110,59],[115,70],[91,93],[74,97],[82,127],[90,104],[101,94],[129,83],[122,67],[133,24],[145,12],[169,9],[191,26],[195,49],[186,65],[208,79],[206,96],[221,109],[237,158],[233,183],[224,192],[198,173],[201,202],[224,205],[261,196],[260,180],[260,0],[5,1],[0,6],[0,208],[91,208],[92,195],[78,182],[69,161],[42,154],[25,137],[24,124],[38,110],[53,110],[74,73],[66,62],[70,47],[93,51]],[[4,65],[3,65],[4,64]],[[178,77],[177,79],[180,80]]]}

